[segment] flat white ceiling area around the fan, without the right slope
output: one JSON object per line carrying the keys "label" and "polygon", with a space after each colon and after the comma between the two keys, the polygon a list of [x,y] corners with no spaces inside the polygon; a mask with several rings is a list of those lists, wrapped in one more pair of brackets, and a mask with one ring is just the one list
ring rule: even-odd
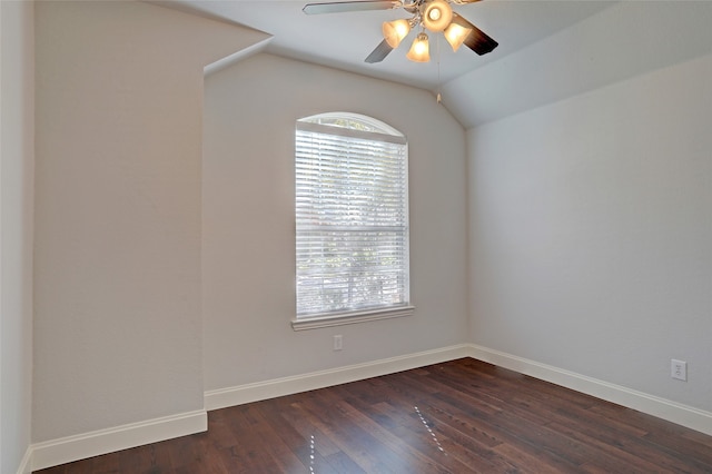
{"label": "flat white ceiling area around the fan, without the right slope", "polygon": [[[339,0],[336,0],[339,1]],[[403,9],[305,14],[306,3],[319,0],[172,0],[165,6],[228,20],[271,34],[266,51],[383,79],[433,89],[487,62],[540,41],[604,9],[607,1],[486,0],[455,10],[493,37],[500,46],[477,56],[463,47],[453,52],[442,34],[431,34],[432,60],[405,58],[408,39],[383,62],[364,59],[383,40],[384,21],[408,18]],[[439,41],[439,55],[435,53]],[[439,68],[438,68],[439,59]],[[439,71],[438,71],[439,69]]]}

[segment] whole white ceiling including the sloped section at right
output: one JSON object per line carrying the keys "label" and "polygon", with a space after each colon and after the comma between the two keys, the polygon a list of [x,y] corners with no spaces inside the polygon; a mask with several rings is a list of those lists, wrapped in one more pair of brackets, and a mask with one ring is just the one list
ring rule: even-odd
{"label": "whole white ceiling including the sloped section at right", "polygon": [[[150,0],[148,0],[150,1]],[[338,0],[330,0],[338,1]],[[500,46],[453,52],[431,34],[432,60],[364,62],[380,24],[403,9],[305,14],[318,0],[154,0],[174,9],[267,33],[259,50],[443,92],[443,105],[471,128],[625,78],[712,53],[712,0],[485,0],[455,10]],[[439,37],[438,40],[433,37]]]}

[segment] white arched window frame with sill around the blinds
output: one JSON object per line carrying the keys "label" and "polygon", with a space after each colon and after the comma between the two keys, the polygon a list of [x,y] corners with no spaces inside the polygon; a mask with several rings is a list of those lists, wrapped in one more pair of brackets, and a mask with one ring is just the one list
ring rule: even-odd
{"label": "white arched window frame with sill around the blinds", "polygon": [[[337,125],[336,122],[355,122],[358,124],[359,129],[344,127],[343,125]],[[363,127],[363,129],[362,129]],[[363,309],[345,309],[345,310],[334,310],[326,313],[312,313],[307,315],[296,315],[291,320],[291,326],[295,330],[301,329],[313,329],[319,327],[328,327],[328,326],[340,326],[346,324],[355,324],[355,323],[364,323],[372,322],[378,319],[386,318],[395,318],[402,316],[409,316],[414,314],[415,307],[413,306],[411,298],[411,268],[409,268],[409,203],[408,203],[408,145],[406,137],[390,127],[389,125],[382,122],[373,117],[367,117],[357,113],[349,112],[328,112],[328,113],[319,113],[316,116],[304,117],[297,120],[295,127],[295,186],[297,175],[297,152],[298,152],[298,132],[300,130],[304,131],[313,131],[317,134],[340,136],[346,138],[354,139],[365,139],[365,140],[375,140],[383,141],[389,144],[397,144],[405,147],[404,149],[404,164],[402,166],[405,167],[405,176],[403,186],[405,187],[405,197],[403,205],[405,206],[405,302],[397,305],[387,305],[387,306],[377,306],[377,307],[368,307]],[[297,190],[295,188],[295,199],[297,196]],[[295,219],[297,217],[297,203],[295,201]],[[297,225],[295,221],[295,243],[297,238]],[[355,229],[356,230],[356,229]],[[295,263],[298,261],[298,256],[295,258]],[[295,278],[297,276],[298,269],[295,268]],[[295,289],[297,282],[295,280]],[[297,295],[295,295],[297,296]],[[295,305],[297,300],[295,300]]]}

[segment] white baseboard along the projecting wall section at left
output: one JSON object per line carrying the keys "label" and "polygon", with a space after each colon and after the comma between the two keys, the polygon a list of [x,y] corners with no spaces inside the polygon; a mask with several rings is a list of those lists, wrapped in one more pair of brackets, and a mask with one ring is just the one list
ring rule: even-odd
{"label": "white baseboard along the projecting wall section at left", "polygon": [[30,446],[31,465],[33,471],[43,470],[206,429],[208,416],[205,409],[131,423],[33,444]]}

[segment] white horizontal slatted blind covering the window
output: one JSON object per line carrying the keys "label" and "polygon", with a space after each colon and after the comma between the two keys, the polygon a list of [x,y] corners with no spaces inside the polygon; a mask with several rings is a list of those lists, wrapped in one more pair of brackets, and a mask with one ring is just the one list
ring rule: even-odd
{"label": "white horizontal slatted blind covering the window", "polygon": [[297,122],[297,318],[409,304],[405,137],[348,117]]}

